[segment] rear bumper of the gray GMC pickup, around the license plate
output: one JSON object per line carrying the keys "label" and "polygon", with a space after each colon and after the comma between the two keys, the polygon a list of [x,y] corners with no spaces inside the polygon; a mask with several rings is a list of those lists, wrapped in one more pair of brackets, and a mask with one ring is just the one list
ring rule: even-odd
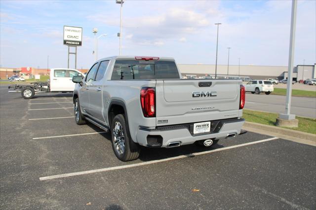
{"label": "rear bumper of the gray GMC pickup, around the license plate", "polygon": [[[229,134],[240,134],[244,119],[227,119],[212,121],[216,125],[211,128],[211,132],[194,135],[193,124],[182,124],[172,126],[160,126],[156,129],[139,128],[137,131],[137,142],[147,147],[168,147],[169,143],[180,141],[181,145],[192,144],[197,140],[224,139]],[[155,143],[157,139],[159,143]]]}

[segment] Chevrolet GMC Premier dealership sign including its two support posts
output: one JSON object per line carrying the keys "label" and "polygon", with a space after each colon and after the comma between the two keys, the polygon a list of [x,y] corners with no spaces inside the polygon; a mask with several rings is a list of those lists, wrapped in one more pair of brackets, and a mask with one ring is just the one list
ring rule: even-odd
{"label": "Chevrolet GMC Premier dealership sign including its two support posts", "polygon": [[[75,69],[77,69],[77,46],[82,45],[82,28],[64,26],[64,45],[68,46],[68,69],[70,54],[75,54]],[[75,52],[70,52],[70,47],[75,47]]]}

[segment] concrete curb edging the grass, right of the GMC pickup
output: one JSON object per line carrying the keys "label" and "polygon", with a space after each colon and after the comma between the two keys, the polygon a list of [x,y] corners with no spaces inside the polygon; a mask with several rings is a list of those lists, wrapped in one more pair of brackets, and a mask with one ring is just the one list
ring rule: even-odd
{"label": "concrete curb edging the grass, right of the GMC pickup", "polygon": [[299,143],[305,143],[316,146],[316,135],[301,131],[294,131],[286,128],[279,128],[270,125],[263,125],[260,123],[245,122],[243,129],[259,134],[270,135],[286,140],[292,140]]}

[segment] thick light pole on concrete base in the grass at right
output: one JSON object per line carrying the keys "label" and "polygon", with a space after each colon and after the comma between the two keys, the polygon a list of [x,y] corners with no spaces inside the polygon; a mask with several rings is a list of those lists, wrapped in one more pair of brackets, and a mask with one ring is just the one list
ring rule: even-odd
{"label": "thick light pole on concrete base in the grass at right", "polygon": [[291,114],[291,96],[292,96],[292,77],[293,77],[293,60],[294,60],[294,44],[295,44],[295,27],[296,27],[296,7],[297,0],[292,0],[292,15],[291,15],[291,31],[290,31],[290,49],[288,58],[288,78],[286,88],[285,114],[279,114],[276,119],[277,126],[298,127],[298,120],[295,119],[295,114]]}

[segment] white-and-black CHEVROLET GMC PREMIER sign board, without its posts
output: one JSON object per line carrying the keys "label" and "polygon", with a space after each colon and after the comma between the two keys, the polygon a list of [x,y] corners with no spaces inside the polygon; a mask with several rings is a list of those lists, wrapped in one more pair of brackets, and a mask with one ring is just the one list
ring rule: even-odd
{"label": "white-and-black CHEVROLET GMC PREMIER sign board, without its posts", "polygon": [[64,44],[81,46],[82,43],[82,28],[64,26]]}

